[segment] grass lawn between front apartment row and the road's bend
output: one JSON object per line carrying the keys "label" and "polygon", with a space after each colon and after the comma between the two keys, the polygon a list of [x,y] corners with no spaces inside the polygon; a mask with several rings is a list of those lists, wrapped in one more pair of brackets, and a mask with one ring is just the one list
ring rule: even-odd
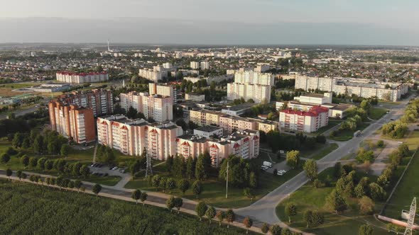
{"label": "grass lawn between front apartment row and the road's bend", "polygon": [[[165,171],[165,167],[163,165],[157,166],[153,170],[153,173],[158,173],[162,177],[171,177],[169,176],[169,173]],[[242,188],[234,188],[232,186],[229,186],[228,198],[226,199],[225,182],[219,181],[217,180],[217,178],[212,177],[209,178],[209,180],[205,180],[204,182],[202,182],[204,191],[199,196],[199,200],[202,200],[207,204],[213,205],[214,207],[246,207],[248,205],[251,205],[251,203],[255,202],[256,200],[259,200],[261,197],[271,192],[272,190],[278,188],[280,185],[285,183],[290,178],[293,178],[301,171],[301,169],[290,170],[287,173],[285,173],[284,176],[274,176],[273,174],[267,173],[265,171],[261,172],[259,174],[259,187],[254,190],[255,198],[252,201],[248,197],[244,196]],[[178,179],[179,178],[175,178],[175,180]],[[190,183],[193,183],[193,180],[190,180]],[[125,188],[139,188],[141,190],[156,191],[156,188],[149,186],[147,180],[145,180],[145,178],[143,177],[129,181],[129,183],[125,185]],[[191,200],[197,199],[195,195],[192,193],[192,190],[187,190],[185,195],[182,195],[180,190],[175,189],[171,192],[171,194],[176,196],[183,196]]]}

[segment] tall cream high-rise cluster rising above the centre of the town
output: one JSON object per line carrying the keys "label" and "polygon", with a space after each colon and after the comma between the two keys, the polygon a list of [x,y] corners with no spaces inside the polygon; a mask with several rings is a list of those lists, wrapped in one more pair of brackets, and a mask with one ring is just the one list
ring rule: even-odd
{"label": "tall cream high-rise cluster rising above the centre of the town", "polygon": [[271,86],[274,83],[273,74],[254,71],[241,71],[234,74],[234,83],[227,84],[227,98],[231,101],[244,98],[255,103],[271,101]]}

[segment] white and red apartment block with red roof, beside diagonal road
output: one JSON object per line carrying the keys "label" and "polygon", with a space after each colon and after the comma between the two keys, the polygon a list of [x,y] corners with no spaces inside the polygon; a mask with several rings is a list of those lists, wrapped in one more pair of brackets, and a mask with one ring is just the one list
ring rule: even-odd
{"label": "white and red apartment block with red roof, beside diagonal road", "polygon": [[308,111],[286,109],[279,112],[279,126],[285,131],[315,132],[328,122],[329,109],[320,105]]}

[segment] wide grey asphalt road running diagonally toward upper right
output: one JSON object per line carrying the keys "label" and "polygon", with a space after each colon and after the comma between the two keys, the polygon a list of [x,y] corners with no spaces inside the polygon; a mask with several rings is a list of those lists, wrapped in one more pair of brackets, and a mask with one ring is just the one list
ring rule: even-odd
{"label": "wide grey asphalt road running diagonally toward upper right", "polygon": [[[324,171],[330,166],[334,166],[339,159],[342,159],[347,154],[355,151],[362,140],[369,137],[383,124],[389,122],[390,119],[397,120],[400,118],[401,115],[403,115],[403,110],[406,108],[407,103],[408,101],[403,101],[400,105],[394,105],[390,113],[384,115],[380,120],[371,123],[369,127],[366,127],[366,129],[362,131],[360,137],[354,137],[347,142],[339,144],[338,149],[335,149],[324,158],[318,160],[317,165],[319,172]],[[258,221],[267,222],[268,224],[280,224],[282,227],[288,227],[276,216],[276,205],[287,198],[291,193],[295,192],[295,190],[301,188],[307,182],[308,178],[305,176],[305,172],[303,171],[294,178],[288,180],[286,183],[283,183],[283,185],[276,188],[276,190],[268,193],[265,197],[262,197],[260,200],[254,202],[254,204],[249,207],[243,207],[234,211],[236,214],[240,214],[244,217],[249,216]]]}

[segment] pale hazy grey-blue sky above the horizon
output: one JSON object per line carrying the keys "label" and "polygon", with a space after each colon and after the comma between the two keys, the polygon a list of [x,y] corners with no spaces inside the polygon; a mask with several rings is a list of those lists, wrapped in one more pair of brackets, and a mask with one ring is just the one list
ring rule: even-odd
{"label": "pale hazy grey-blue sky above the horizon", "polygon": [[0,1],[0,42],[419,45],[417,0]]}

